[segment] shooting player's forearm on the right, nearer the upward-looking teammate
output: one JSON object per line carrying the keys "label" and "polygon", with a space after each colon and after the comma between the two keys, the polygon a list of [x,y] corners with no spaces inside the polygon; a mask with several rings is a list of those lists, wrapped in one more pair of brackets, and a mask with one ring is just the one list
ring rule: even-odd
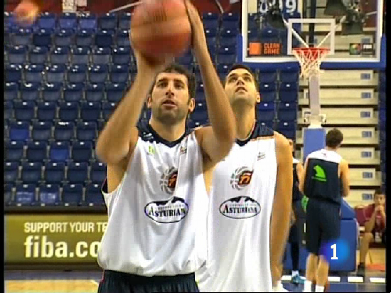
{"label": "shooting player's forearm on the right, nearer the upward-looking teammate", "polygon": [[226,149],[228,152],[236,137],[235,117],[230,102],[207,49],[196,50],[196,57],[204,83],[208,116],[213,133],[221,143],[222,151]]}

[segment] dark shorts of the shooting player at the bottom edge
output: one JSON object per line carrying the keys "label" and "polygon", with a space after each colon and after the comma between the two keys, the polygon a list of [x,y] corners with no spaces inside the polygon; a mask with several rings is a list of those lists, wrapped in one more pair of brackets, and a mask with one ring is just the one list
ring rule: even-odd
{"label": "dark shorts of the shooting player at the bottom edge", "polygon": [[199,292],[194,273],[145,277],[105,270],[98,293]]}

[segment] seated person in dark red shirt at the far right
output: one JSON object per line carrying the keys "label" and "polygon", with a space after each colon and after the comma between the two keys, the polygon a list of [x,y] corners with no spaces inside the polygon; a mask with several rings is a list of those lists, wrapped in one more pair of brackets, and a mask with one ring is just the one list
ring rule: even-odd
{"label": "seated person in dark red shirt at the far right", "polygon": [[386,194],[381,189],[375,191],[374,203],[364,209],[365,232],[360,246],[360,263],[357,268],[357,275],[365,275],[365,258],[368,253],[369,244],[374,241],[381,241],[386,245]]}

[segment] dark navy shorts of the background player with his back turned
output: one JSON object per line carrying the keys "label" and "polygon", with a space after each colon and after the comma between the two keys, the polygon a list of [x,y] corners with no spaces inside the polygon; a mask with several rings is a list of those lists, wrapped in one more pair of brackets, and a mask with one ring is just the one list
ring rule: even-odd
{"label": "dark navy shorts of the background player with his back turned", "polygon": [[339,238],[341,206],[310,198],[307,205],[305,242],[309,253],[319,255],[321,245]]}

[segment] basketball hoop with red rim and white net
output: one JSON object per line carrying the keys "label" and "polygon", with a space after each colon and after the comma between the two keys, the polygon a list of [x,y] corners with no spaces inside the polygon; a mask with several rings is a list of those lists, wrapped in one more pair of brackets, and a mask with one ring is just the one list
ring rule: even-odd
{"label": "basketball hoop with red rim and white net", "polygon": [[300,63],[300,76],[309,78],[320,74],[320,65],[330,52],[330,49],[312,47],[293,48],[292,52]]}

